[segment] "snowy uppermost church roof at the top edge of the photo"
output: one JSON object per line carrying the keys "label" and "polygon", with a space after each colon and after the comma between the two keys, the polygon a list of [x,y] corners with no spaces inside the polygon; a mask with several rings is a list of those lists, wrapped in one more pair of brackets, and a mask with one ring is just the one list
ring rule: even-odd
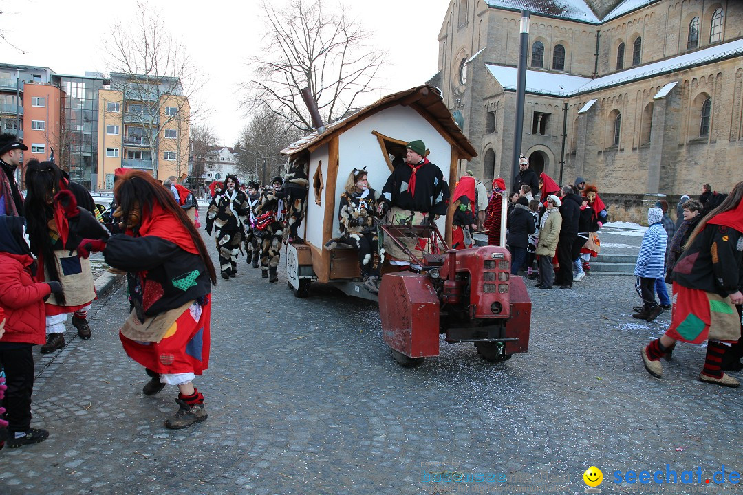
{"label": "snowy uppermost church roof at the top edge of the photo", "polygon": [[631,10],[652,4],[658,0],[622,0],[603,18],[596,16],[583,0],[485,0],[490,7],[508,10],[528,10],[534,14],[560,17],[573,21],[600,24]]}

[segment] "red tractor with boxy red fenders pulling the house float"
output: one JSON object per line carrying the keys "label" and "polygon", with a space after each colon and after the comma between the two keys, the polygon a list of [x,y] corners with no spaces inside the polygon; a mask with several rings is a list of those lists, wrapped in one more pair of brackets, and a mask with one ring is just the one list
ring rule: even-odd
{"label": "red tractor with boxy red fenders pulling the house float", "polygon": [[379,293],[384,341],[395,361],[418,366],[446,341],[472,342],[487,361],[529,347],[531,300],[510,275],[510,253],[496,246],[446,250],[435,226],[380,226],[418,265],[385,273]]}

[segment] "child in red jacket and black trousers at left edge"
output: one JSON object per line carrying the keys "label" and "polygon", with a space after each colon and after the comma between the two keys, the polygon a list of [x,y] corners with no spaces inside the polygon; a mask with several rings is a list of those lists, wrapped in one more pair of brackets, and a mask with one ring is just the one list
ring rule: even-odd
{"label": "child in red jacket and black trousers at left edge", "polygon": [[44,344],[44,299],[62,292],[57,281],[33,282],[36,258],[31,254],[22,217],[0,217],[0,309],[5,315],[0,337],[0,367],[5,370],[9,448],[43,442],[47,430],[30,427],[33,393],[33,345]]}

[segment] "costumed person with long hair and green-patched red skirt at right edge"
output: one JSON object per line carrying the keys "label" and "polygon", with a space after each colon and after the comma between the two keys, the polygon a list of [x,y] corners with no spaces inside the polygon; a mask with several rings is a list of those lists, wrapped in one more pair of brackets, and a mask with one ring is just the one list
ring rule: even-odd
{"label": "costumed person with long hair and green-patched red skirt at right edge", "polygon": [[705,383],[737,388],[740,382],[723,373],[727,346],[741,336],[743,304],[743,182],[697,224],[673,268],[673,311],[666,333],[640,351],[645,369],[661,378],[661,357],[676,341],[707,341],[707,358],[699,375]]}

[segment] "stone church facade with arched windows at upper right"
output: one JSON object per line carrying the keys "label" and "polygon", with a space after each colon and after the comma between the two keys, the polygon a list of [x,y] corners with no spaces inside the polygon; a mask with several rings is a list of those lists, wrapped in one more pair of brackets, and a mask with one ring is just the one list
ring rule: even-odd
{"label": "stone church facade with arched windows at upper right", "polygon": [[[704,183],[729,191],[743,179],[736,162],[743,151],[743,3],[635,1],[633,10],[617,14],[627,2],[573,1],[593,9],[588,21],[574,13],[540,14],[545,2],[531,3],[522,152],[538,173],[559,183],[585,177],[607,197],[635,198],[695,197]],[[464,133],[478,150],[478,157],[461,163],[462,171],[472,170],[485,183],[498,176],[510,183],[513,156],[516,92],[488,69],[518,65],[520,10],[504,4],[450,1],[432,79],[450,110],[464,116]],[[696,46],[690,43],[695,18]],[[534,67],[536,42],[544,46],[543,68]],[[565,53],[562,71],[556,70],[557,45]],[[655,62],[666,70],[652,72]],[[548,92],[534,83],[552,75],[597,83]],[[602,84],[605,79],[611,82]],[[614,220],[639,221],[639,204],[617,201]]]}

